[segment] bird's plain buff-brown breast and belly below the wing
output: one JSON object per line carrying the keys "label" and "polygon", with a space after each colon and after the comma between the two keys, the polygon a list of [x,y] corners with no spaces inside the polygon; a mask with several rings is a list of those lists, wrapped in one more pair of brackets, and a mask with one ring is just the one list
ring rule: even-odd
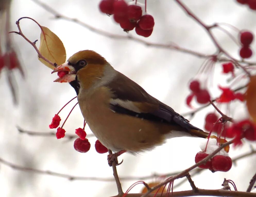
{"label": "bird's plain buff-brown breast and belly below the wing", "polygon": [[113,112],[109,108],[111,96],[105,87],[78,95],[82,115],[103,145],[115,152],[141,152],[164,142],[160,131],[169,131],[168,125]]}

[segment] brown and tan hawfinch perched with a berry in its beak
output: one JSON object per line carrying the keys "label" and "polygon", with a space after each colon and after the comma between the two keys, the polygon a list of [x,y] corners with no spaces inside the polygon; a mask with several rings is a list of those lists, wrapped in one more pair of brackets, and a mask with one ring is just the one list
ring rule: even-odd
{"label": "brown and tan hawfinch perched with a berry in its beak", "polygon": [[108,156],[110,166],[124,152],[149,151],[168,138],[209,135],[116,71],[94,51],[73,54],[52,73],[60,71],[68,74],[55,82],[70,83],[92,133],[114,152]]}

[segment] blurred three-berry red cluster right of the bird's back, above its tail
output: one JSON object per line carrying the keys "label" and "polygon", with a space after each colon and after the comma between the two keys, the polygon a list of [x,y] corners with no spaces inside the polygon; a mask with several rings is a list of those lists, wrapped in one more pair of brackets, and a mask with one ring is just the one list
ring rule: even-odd
{"label": "blurred three-berry red cluster right of the bird's back, above its tail", "polygon": [[202,89],[200,87],[199,81],[197,81],[197,80],[191,81],[189,88],[192,91],[192,93],[186,99],[186,103],[188,106],[190,106],[190,103],[194,96],[196,97],[197,102],[200,104],[206,104],[210,101],[211,96],[210,96],[209,92],[206,89]]}

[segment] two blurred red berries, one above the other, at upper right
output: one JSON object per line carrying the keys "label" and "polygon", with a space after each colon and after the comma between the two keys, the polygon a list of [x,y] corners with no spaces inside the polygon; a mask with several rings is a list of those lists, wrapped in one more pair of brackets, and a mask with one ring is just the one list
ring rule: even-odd
{"label": "two blurred red berries, one above the other, at upper right", "polygon": [[[256,1],[255,1],[256,2]],[[252,56],[252,50],[250,48],[250,44],[253,41],[253,34],[251,32],[248,31],[242,31],[240,32],[240,43],[242,45],[241,49],[240,49],[240,56],[242,58],[249,58]]]}

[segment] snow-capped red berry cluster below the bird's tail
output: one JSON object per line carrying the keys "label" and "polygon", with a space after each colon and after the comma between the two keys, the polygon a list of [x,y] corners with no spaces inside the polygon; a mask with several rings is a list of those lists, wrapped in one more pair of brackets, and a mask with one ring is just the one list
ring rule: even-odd
{"label": "snow-capped red berry cluster below the bird's tail", "polygon": [[[204,142],[201,144],[202,151],[198,152],[195,155],[195,163],[200,162],[205,157],[207,157],[209,154],[211,154],[214,150],[218,148],[217,140],[209,138],[207,142]],[[206,163],[203,163],[198,166],[202,169],[209,169],[210,171],[222,171],[227,172],[232,167],[232,159],[228,156],[228,153],[221,150],[218,155],[215,155],[210,160],[208,160]]]}

